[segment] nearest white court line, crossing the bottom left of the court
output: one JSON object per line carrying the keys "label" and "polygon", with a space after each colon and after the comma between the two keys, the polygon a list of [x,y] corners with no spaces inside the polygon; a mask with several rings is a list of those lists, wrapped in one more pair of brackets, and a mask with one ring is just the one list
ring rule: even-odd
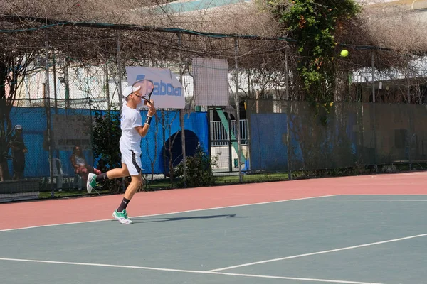
{"label": "nearest white court line, crossing the bottom left of the court", "polygon": [[68,264],[68,265],[73,265],[73,266],[98,266],[98,267],[100,266],[100,267],[112,267],[112,268],[132,268],[132,269],[144,269],[144,270],[150,270],[150,271],[173,271],[173,272],[183,272],[183,273],[231,275],[231,276],[243,276],[243,277],[252,277],[252,278],[272,278],[272,279],[301,280],[301,281],[326,282],[326,283],[383,284],[383,283],[357,282],[357,281],[347,281],[347,280],[331,280],[331,279],[320,279],[320,278],[297,278],[297,277],[271,276],[271,275],[225,273],[225,272],[214,272],[214,271],[190,271],[190,270],[184,270],[184,269],[156,268],[156,267],[146,267],[146,266],[120,266],[120,265],[113,265],[113,264],[81,263],[81,262],[69,262],[69,261],[41,261],[41,260],[35,260],[35,259],[21,259],[21,258],[0,258],[0,261],[54,263],[54,264]]}

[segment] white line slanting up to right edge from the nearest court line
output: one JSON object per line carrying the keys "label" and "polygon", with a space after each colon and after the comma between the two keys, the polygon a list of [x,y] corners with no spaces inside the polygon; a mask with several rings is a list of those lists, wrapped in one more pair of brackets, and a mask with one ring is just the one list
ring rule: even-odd
{"label": "white line slanting up to right edge from the nearest court line", "polygon": [[345,248],[330,249],[330,250],[327,250],[327,251],[317,251],[315,253],[297,254],[296,256],[285,256],[283,258],[273,258],[273,259],[268,259],[266,261],[255,261],[255,262],[251,262],[251,263],[243,263],[243,264],[239,264],[237,266],[228,266],[228,267],[223,267],[223,268],[211,269],[210,271],[211,272],[225,271],[227,269],[239,268],[239,267],[244,267],[244,266],[254,266],[255,264],[269,263],[269,262],[273,262],[273,261],[284,261],[285,259],[291,259],[291,258],[300,258],[300,257],[304,257],[304,256],[315,256],[317,254],[333,253],[335,251],[347,251],[349,249],[363,248],[364,246],[375,246],[377,244],[386,244],[386,243],[391,243],[391,242],[394,242],[394,241],[404,241],[406,239],[419,238],[420,236],[427,236],[427,234],[421,234],[421,235],[415,235],[415,236],[405,236],[404,238],[399,238],[399,239],[390,239],[390,240],[387,240],[387,241],[376,241],[375,243],[359,244],[357,246],[347,246]]}

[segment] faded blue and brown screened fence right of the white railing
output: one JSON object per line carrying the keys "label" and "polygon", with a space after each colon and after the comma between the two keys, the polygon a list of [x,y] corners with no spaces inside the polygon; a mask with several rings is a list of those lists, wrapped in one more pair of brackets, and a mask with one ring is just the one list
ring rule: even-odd
{"label": "faded blue and brown screened fence right of the white railing", "polygon": [[[273,108],[279,104],[279,108]],[[275,110],[275,111],[273,111]],[[425,105],[249,101],[251,171],[425,163]]]}

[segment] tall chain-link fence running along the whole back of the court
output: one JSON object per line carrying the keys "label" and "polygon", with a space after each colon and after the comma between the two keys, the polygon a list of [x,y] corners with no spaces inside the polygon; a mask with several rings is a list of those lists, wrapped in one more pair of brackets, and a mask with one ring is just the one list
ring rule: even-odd
{"label": "tall chain-link fence running along the whole back of the court", "polygon": [[[172,169],[197,145],[211,157],[218,156],[216,175],[239,178],[241,170],[248,177],[357,165],[412,165],[425,159],[424,55],[355,46],[347,58],[336,60],[336,82],[329,82],[337,85],[333,102],[313,107],[303,102],[307,98],[298,80],[297,46],[283,38],[95,23],[46,26],[40,20],[3,18],[10,29],[6,38],[23,39],[21,57],[16,59],[25,60],[11,63],[7,70],[13,71],[4,73],[9,81],[1,86],[0,111],[7,112],[0,112],[4,173],[0,180],[5,180],[1,194],[27,188],[43,192],[37,197],[65,195],[64,191],[67,196],[82,194],[84,180],[76,176],[70,159],[75,146],[83,149],[88,164],[107,170],[110,165],[94,158],[97,150],[90,126],[95,114],[120,111],[125,67],[132,66],[168,68],[184,86],[185,109],[159,109],[142,139],[144,177],[149,182],[164,179],[164,187],[173,187],[174,180],[167,179]],[[21,21],[34,27],[31,53],[25,51],[28,35]],[[207,68],[224,74],[223,81],[214,80],[215,72],[205,72],[205,81],[198,78],[196,70],[202,65],[195,58],[224,60]],[[221,102],[216,100],[219,89],[225,94]],[[215,102],[206,102],[211,100]],[[208,109],[215,110],[200,111]],[[14,157],[9,145],[16,125],[22,126],[28,149],[19,182],[11,180]],[[10,190],[9,185],[19,189]]]}

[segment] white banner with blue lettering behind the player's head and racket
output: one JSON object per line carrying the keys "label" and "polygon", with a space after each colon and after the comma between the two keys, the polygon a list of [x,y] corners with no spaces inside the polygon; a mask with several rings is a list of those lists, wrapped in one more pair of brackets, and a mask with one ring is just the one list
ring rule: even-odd
{"label": "white banner with blue lettering behind the player's head and racket", "polygon": [[151,99],[159,109],[184,109],[185,94],[182,84],[169,69],[126,67],[127,84],[148,79],[154,83]]}

